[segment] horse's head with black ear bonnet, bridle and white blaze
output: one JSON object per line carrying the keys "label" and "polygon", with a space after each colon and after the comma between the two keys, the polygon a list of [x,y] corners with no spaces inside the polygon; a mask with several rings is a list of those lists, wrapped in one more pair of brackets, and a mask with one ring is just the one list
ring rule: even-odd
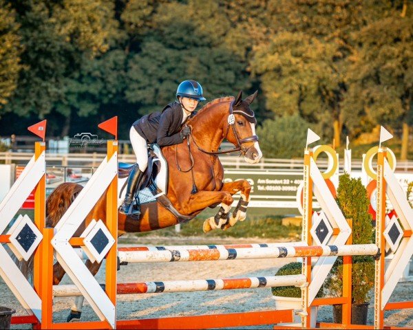
{"label": "horse's head with black ear bonnet, bridle and white blaze", "polygon": [[259,162],[262,157],[258,137],[255,135],[257,120],[250,107],[251,102],[257,96],[257,92],[255,91],[245,100],[242,100],[242,91],[238,93],[232,106],[233,113],[228,118],[228,122],[233,129],[229,129],[226,135],[226,140],[240,148],[245,161],[250,164]]}

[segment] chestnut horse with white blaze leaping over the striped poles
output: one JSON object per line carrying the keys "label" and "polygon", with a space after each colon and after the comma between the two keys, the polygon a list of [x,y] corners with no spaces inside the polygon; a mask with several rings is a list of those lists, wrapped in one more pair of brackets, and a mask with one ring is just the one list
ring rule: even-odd
{"label": "chestnut horse with white blaze leaping over the striped poles", "polygon": [[[187,122],[192,128],[189,142],[162,148],[169,173],[166,197],[179,214],[185,219],[191,219],[207,207],[221,205],[215,217],[204,221],[204,232],[216,228],[225,230],[246,218],[251,185],[244,179],[224,183],[224,168],[218,154],[240,151],[246,162],[255,164],[260,161],[262,152],[255,135],[254,113],[250,108],[255,96],[257,92],[242,100],[240,91],[236,98],[229,96],[207,103]],[[234,144],[235,148],[220,151],[224,139]],[[122,185],[119,184],[119,188],[120,186]],[[78,184],[64,183],[52,192],[46,201],[47,226],[54,227],[59,222],[81,189],[82,186]],[[240,192],[240,200],[230,214],[232,195],[237,192]],[[105,222],[105,212],[104,194],[75,236],[80,236],[92,219],[102,219]],[[118,236],[125,232],[157,230],[181,222],[176,214],[157,201],[142,203],[140,212],[139,219],[118,213]],[[100,267],[99,263],[91,263],[89,260],[86,265],[94,275]],[[59,263],[54,264],[53,284],[59,284],[64,274],[63,267]]]}

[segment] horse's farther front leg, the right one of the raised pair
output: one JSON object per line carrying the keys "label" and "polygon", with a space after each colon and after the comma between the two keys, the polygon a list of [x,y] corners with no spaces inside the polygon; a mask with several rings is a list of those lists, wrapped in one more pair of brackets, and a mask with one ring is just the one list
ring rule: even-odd
{"label": "horse's farther front leg, the right one of the raised pair", "polygon": [[251,184],[243,179],[233,182],[226,182],[224,186],[222,186],[221,191],[228,191],[231,195],[234,195],[239,191],[241,192],[240,200],[238,201],[235,210],[222,227],[223,230],[226,230],[235,225],[237,221],[244,221],[246,219],[246,208],[250,201]]}

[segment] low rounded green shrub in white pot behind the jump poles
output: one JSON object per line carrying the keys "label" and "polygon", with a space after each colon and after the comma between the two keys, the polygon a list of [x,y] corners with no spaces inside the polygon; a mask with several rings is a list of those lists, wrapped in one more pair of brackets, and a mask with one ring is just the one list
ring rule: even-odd
{"label": "low rounded green shrub in white pot behind the jump poles", "polygon": [[[298,275],[301,274],[301,263],[293,262],[287,263],[286,265],[279,268],[275,276],[284,275]],[[271,292],[273,293],[273,299],[275,301],[275,309],[299,309],[301,310],[301,288],[300,287],[271,287]],[[323,287],[317,294],[317,298],[323,295]],[[315,328],[315,323],[317,321],[317,311],[318,307],[311,307],[311,325],[310,327]],[[294,314],[294,323],[283,323],[279,325],[297,325],[301,327],[301,316]]]}

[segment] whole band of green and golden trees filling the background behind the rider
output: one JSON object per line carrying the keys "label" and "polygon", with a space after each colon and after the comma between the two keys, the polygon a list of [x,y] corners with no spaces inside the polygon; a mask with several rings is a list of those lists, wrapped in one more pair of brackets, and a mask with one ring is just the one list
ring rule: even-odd
{"label": "whole band of green and golden trees filling the background behind the rider", "polygon": [[209,100],[258,89],[259,124],[297,115],[329,140],[399,129],[413,124],[412,13],[403,0],[0,0],[2,135],[119,115],[127,138],[188,78]]}

